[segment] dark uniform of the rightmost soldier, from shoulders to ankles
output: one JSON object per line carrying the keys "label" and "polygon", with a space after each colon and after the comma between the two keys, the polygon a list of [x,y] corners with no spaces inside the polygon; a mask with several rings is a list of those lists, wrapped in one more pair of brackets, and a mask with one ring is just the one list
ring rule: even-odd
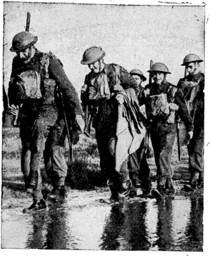
{"label": "dark uniform of the rightmost soldier, from shoulders to ankles", "polygon": [[183,91],[190,116],[193,120],[193,139],[188,144],[189,171],[191,179],[195,172],[200,174],[200,182],[204,172],[204,74],[188,75],[177,84]]}

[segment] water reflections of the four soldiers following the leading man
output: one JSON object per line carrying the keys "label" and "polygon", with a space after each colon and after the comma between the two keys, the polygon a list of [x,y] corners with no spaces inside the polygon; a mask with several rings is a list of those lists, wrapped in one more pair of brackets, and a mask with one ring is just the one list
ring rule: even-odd
{"label": "water reflections of the four soldiers following the leading man", "polygon": [[202,251],[202,198],[113,205],[102,250]]}

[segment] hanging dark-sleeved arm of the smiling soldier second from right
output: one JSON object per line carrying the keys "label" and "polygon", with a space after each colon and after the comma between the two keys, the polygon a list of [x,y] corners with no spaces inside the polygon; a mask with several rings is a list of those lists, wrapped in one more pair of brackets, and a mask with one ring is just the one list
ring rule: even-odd
{"label": "hanging dark-sleeved arm of the smiling soldier second from right", "polygon": [[192,121],[192,118],[190,117],[190,114],[188,112],[188,108],[186,105],[186,101],[184,100],[183,94],[180,89],[176,91],[174,103],[179,105],[179,110],[178,110],[179,117],[186,124],[187,131],[188,132],[193,131],[193,121]]}

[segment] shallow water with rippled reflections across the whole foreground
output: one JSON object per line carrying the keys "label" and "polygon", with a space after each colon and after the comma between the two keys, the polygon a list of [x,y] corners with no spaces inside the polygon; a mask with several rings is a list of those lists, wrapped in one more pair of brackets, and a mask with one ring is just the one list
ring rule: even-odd
{"label": "shallow water with rippled reflections across the whole foreground", "polygon": [[2,210],[2,248],[202,251],[202,194],[109,203],[109,191],[69,190],[49,209],[22,214],[31,199]]}

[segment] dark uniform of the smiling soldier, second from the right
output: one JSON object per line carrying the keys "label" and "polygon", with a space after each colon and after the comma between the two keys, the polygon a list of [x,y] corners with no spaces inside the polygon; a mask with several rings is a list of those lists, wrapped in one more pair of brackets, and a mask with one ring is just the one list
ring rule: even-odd
{"label": "dark uniform of the smiling soldier, second from the right", "polygon": [[[148,84],[144,91],[148,96],[144,99],[146,103],[146,111],[148,119],[151,120],[151,142],[155,154],[155,164],[157,166],[158,189],[167,191],[172,186],[173,170],[171,167],[172,149],[176,136],[176,123],[174,111],[169,110],[168,113],[155,115],[151,110],[151,96],[165,94],[167,96],[167,104],[175,103],[179,106],[176,114],[179,114],[181,120],[186,124],[187,131],[193,130],[192,120],[188,114],[188,109],[181,90],[167,82],[165,79],[161,84]],[[153,97],[152,97],[153,98]],[[152,113],[152,115],[151,115]]]}

